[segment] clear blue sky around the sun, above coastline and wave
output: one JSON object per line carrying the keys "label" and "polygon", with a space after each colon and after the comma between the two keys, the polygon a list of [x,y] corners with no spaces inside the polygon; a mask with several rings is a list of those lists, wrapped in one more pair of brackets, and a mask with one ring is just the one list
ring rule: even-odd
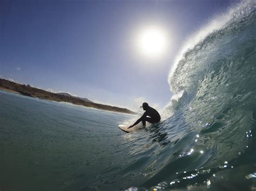
{"label": "clear blue sky around the sun, above coastline and wave", "polygon": [[[167,82],[181,46],[234,0],[0,2],[0,77],[136,110],[172,97]],[[165,32],[165,53],[143,55],[147,26]]]}

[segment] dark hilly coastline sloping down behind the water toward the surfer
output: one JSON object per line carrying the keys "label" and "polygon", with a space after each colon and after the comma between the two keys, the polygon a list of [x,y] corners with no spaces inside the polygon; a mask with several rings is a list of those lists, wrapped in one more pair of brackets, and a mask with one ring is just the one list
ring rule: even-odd
{"label": "dark hilly coastline sloping down behind the water toward the surfer", "polygon": [[42,89],[37,89],[30,87],[26,84],[19,84],[15,82],[11,82],[9,80],[0,79],[0,90],[5,90],[10,93],[15,94],[21,94],[29,97],[37,97],[43,100],[51,100],[51,101],[57,101],[57,102],[67,102],[75,105],[82,105],[84,107],[89,108],[95,108],[100,110],[107,110],[107,111],[114,111],[114,112],[122,112],[125,114],[136,114],[136,112],[133,112],[126,108],[118,108],[111,105],[104,105],[99,103],[93,103],[93,102],[86,102],[78,97],[70,97],[65,95],[59,95],[55,93],[51,93],[49,91],[45,91]]}

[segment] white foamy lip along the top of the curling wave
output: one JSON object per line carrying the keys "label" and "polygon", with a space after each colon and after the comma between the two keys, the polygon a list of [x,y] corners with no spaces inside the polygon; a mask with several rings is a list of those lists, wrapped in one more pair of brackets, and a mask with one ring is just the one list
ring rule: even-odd
{"label": "white foamy lip along the top of the curling wave", "polygon": [[[255,1],[250,0],[234,5],[226,13],[212,19],[186,41],[174,60],[169,73],[169,84],[174,93],[186,87],[184,80],[187,78],[188,73],[193,73],[197,67],[204,67],[207,63],[211,63],[211,61],[207,60],[209,56],[212,60],[218,59],[218,55],[209,55],[204,49],[207,50],[206,48],[211,46],[210,51],[218,52],[220,44],[213,43],[221,38],[221,36],[225,36],[233,30],[239,30],[238,28],[242,22],[246,22],[246,19],[254,17],[255,8]],[[198,54],[199,52],[200,54]],[[204,62],[200,62],[200,60],[204,60]],[[180,70],[183,68],[186,68],[186,70],[181,73]],[[176,80],[177,78],[179,80]]]}

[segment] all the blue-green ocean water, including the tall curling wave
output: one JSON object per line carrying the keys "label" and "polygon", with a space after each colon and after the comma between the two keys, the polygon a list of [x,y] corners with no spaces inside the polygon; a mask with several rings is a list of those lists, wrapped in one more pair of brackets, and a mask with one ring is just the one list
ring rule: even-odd
{"label": "all the blue-green ocean water, including the tall curling wave", "polygon": [[0,91],[0,189],[256,190],[255,10],[234,5],[188,38],[151,128]]}

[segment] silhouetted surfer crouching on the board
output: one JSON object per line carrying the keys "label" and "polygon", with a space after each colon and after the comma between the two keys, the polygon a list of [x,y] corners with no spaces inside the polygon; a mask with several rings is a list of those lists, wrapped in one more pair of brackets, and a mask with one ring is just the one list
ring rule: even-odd
{"label": "silhouetted surfer crouching on the board", "polygon": [[139,122],[142,122],[142,124],[145,126],[146,122],[157,123],[160,121],[161,117],[159,112],[157,112],[157,110],[155,110],[154,108],[151,108],[149,104],[147,104],[146,102],[142,104],[142,107],[143,107],[143,110],[145,111],[143,116],[140,117],[137,120],[137,122],[135,122],[133,125],[129,126],[129,128],[133,128],[133,126],[137,125]]}

